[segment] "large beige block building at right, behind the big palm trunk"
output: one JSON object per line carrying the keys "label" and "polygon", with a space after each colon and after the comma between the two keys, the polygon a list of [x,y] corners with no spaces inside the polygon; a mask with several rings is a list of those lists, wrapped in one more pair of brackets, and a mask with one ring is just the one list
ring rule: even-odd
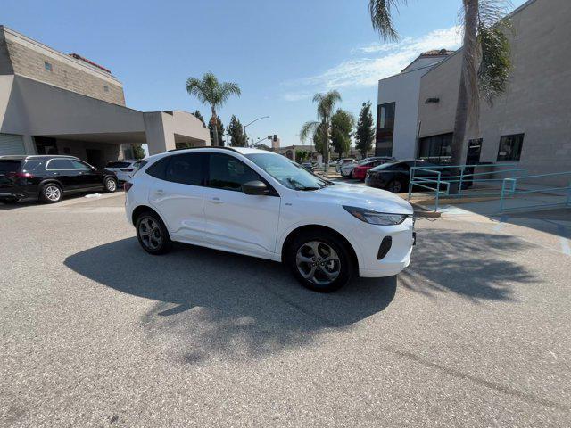
{"label": "large beige block building at right, behind the big palm trunk", "polygon": [[[571,171],[571,1],[530,0],[511,19],[508,90],[492,105],[483,103],[463,159],[517,162],[529,174]],[[461,50],[421,78],[418,147],[411,155],[450,156],[460,64]],[[569,177],[552,181],[567,185]]]}

